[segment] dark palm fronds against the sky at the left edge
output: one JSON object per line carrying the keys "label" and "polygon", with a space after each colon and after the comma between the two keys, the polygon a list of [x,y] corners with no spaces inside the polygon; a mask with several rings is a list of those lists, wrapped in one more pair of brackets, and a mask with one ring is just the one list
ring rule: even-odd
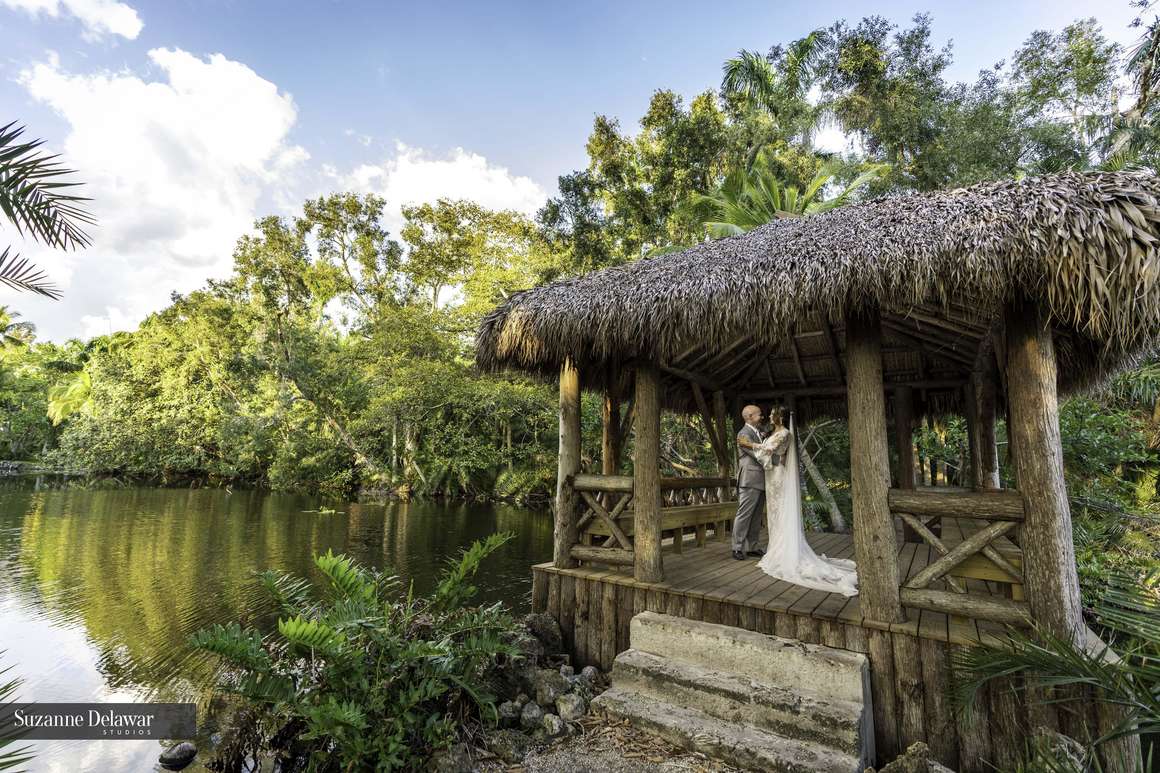
{"label": "dark palm fronds against the sky at the left edge", "polygon": [[[71,193],[79,182],[67,180],[58,156],[45,154],[41,139],[21,139],[23,127],[15,122],[0,127],[0,211],[22,236],[36,241],[75,250],[86,247],[89,238],[84,226],[96,221],[85,209],[84,196]],[[59,298],[44,272],[5,247],[0,252],[0,283],[16,290]]]}

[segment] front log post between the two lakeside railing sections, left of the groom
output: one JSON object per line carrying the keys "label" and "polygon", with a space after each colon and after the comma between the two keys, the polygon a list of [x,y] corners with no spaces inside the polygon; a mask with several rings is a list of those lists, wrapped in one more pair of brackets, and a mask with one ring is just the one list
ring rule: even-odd
{"label": "front log post between the two lakeside railing sections, left of the groom", "polygon": [[660,558],[660,376],[637,368],[632,455],[633,575],[640,583],[664,579]]}

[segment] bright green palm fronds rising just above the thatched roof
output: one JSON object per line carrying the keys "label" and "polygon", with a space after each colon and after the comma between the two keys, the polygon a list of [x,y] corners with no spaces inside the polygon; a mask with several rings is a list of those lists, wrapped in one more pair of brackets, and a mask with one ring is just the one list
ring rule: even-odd
{"label": "bright green palm fronds rising just above the thatched roof", "polygon": [[705,226],[713,238],[737,236],[778,218],[815,215],[841,207],[858,188],[889,171],[889,164],[870,165],[838,195],[821,198],[836,173],[833,165],[822,166],[803,190],[784,185],[773,160],[762,152],[753,167],[730,173],[713,193],[695,195],[693,207],[705,216]]}

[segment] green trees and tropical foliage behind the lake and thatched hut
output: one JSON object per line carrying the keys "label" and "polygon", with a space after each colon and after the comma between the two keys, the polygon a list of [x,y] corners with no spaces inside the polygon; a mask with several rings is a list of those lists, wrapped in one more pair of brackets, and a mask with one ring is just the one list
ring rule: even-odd
{"label": "green trees and tropical foliage behind the lake and thatched hut", "polygon": [[[883,192],[1102,165],[1155,169],[1160,32],[1139,27],[1126,52],[1089,20],[1036,32],[1008,64],[957,84],[929,17],[838,22],[739,52],[691,99],[657,91],[635,129],[597,116],[588,164],[559,179],[534,219],[419,202],[403,208],[392,234],[387,202],[374,196],[305,202],[295,217],[259,221],[238,241],[230,277],[175,296],[133,333],[57,345],[21,332],[0,363],[0,448],[165,483],[543,503],[554,481],[551,388],[480,376],[471,362],[471,335],[495,303]],[[844,132],[841,152],[819,149],[832,129]],[[1151,507],[1160,420],[1154,397],[1128,398],[1136,388],[1065,407],[1078,523],[1119,523],[1112,511]],[[587,407],[592,467],[600,411]],[[711,469],[696,419],[666,417],[664,432],[670,470]],[[832,425],[812,448],[844,505],[840,435]],[[962,479],[962,422],[938,419],[919,440],[925,469]],[[1134,526],[1085,534],[1081,552],[1090,546],[1094,562],[1138,557]]]}

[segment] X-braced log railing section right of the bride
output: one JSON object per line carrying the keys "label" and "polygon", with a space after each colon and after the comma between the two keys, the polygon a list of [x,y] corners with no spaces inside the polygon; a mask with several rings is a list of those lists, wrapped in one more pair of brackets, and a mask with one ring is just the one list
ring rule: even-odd
{"label": "X-braced log railing section right of the bride", "polygon": [[[936,561],[899,588],[904,606],[1010,624],[1030,621],[1030,608],[1022,600],[1022,571],[995,546],[996,540],[1012,534],[1023,521],[1023,499],[1017,491],[891,489],[889,503],[891,512],[938,554]],[[967,518],[989,523],[965,536],[958,544],[949,546],[931,529],[943,518]],[[991,573],[977,571],[980,562]],[[963,577],[1005,581],[1018,591],[1013,593],[1012,599],[972,594]],[[951,588],[949,592],[930,587],[942,578]]]}

